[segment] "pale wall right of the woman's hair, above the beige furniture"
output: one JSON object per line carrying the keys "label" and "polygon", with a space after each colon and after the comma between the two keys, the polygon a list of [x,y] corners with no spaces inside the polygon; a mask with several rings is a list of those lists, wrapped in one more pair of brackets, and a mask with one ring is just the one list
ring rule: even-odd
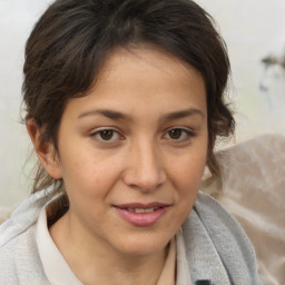
{"label": "pale wall right of the woman's hair, above the beige furniture", "polygon": [[[261,60],[282,57],[285,66],[284,0],[198,0],[217,20],[233,69],[236,141],[264,132],[285,134],[285,69]],[[261,86],[263,88],[261,88]]]}

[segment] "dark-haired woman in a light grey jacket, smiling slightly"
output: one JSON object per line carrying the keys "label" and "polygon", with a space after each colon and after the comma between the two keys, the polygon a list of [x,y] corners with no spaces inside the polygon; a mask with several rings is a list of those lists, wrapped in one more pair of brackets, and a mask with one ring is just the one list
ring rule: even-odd
{"label": "dark-haired woman in a light grey jacket, smiling slightly", "polygon": [[261,284],[199,193],[233,132],[229,62],[188,0],[58,0],[26,47],[33,194],[0,229],[1,284]]}

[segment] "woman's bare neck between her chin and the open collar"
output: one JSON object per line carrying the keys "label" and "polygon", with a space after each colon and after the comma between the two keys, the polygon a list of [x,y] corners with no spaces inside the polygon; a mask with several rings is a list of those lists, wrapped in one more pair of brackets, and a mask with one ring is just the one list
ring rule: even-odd
{"label": "woman's bare neck between her chin and the open collar", "polygon": [[[114,250],[88,234],[75,235],[68,213],[50,227],[50,235],[75,275],[83,284],[155,285],[163,272],[168,246],[147,255]],[[85,233],[78,229],[77,233]],[[70,250],[72,248],[72,250]]]}

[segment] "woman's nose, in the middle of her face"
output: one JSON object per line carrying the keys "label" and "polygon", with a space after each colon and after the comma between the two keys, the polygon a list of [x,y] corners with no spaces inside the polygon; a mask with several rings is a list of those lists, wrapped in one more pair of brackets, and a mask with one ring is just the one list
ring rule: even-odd
{"label": "woman's nose, in the middle of her face", "polygon": [[138,144],[128,151],[124,181],[141,191],[153,191],[166,181],[161,154],[151,144]]}

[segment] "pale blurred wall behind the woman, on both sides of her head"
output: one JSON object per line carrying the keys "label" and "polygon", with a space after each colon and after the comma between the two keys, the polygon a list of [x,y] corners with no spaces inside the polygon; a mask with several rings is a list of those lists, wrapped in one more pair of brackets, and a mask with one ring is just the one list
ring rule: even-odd
{"label": "pale blurred wall behind the woman, on both sides of her head", "polygon": [[[26,40],[51,0],[0,0],[0,206],[30,191],[33,159],[21,124]],[[216,20],[232,62],[228,90],[237,131],[230,144],[285,135],[285,1],[197,0]]]}

